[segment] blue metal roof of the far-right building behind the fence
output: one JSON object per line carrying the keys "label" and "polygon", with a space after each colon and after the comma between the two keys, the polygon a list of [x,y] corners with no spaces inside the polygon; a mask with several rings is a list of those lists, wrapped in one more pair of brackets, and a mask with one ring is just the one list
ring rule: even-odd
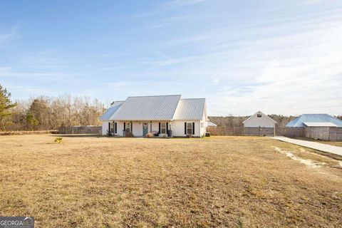
{"label": "blue metal roof of the far-right building behind the fence", "polygon": [[342,120],[338,120],[338,118],[334,118],[328,114],[303,114],[297,117],[296,119],[290,121],[286,124],[288,128],[304,128],[305,123],[333,123],[336,126],[342,128]]}

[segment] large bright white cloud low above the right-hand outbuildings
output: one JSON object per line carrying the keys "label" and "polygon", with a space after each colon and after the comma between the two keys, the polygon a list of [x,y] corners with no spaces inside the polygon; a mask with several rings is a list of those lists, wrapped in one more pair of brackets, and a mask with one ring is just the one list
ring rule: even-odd
{"label": "large bright white cloud low above the right-hand outbuildings", "polygon": [[[259,67],[254,71],[260,73],[252,75],[250,80],[262,85],[249,86],[248,93],[236,89],[213,95],[210,98],[214,103],[212,110],[221,115],[227,111],[247,115],[256,110],[286,115],[341,115],[341,36],[342,27],[336,26],[259,42],[252,56],[259,62]],[[316,41],[308,43],[312,38]],[[264,56],[263,52],[266,53]],[[279,57],[265,61],[265,56]],[[253,69],[250,70],[252,73]]]}

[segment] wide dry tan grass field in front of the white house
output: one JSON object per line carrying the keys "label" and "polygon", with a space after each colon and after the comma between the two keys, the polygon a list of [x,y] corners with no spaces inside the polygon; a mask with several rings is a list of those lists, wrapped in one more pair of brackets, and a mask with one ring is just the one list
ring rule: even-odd
{"label": "wide dry tan grass field in front of the white house", "polygon": [[341,227],[341,162],[271,138],[0,137],[0,216],[36,227]]}

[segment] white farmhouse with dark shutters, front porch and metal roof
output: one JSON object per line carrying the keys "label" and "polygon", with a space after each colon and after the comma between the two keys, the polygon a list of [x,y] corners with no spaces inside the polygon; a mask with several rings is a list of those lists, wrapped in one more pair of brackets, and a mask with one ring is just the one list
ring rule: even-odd
{"label": "white farmhouse with dark shutters, front porch and metal roof", "polygon": [[181,95],[128,97],[115,101],[100,118],[103,135],[142,137],[201,137],[207,129],[205,98],[183,99]]}

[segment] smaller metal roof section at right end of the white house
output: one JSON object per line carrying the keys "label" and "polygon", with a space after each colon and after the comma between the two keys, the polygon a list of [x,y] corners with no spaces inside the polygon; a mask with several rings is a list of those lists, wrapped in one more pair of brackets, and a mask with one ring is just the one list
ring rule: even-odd
{"label": "smaller metal roof section at right end of the white house", "polygon": [[202,120],[205,98],[181,99],[173,117],[174,120]]}

